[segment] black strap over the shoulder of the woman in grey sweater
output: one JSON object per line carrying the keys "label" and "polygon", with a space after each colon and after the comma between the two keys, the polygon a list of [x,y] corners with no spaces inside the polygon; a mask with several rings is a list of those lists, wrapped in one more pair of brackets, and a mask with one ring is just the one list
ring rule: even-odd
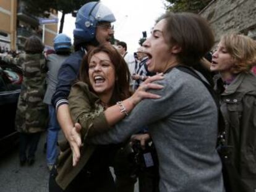
{"label": "black strap over the shoulder of the woman in grey sweater", "polygon": [[218,108],[218,131],[219,134],[223,134],[224,130],[225,130],[225,124],[224,124],[224,118],[223,115],[220,111],[220,99],[218,97],[218,94],[216,94],[215,90],[213,90],[213,88],[210,86],[209,83],[207,83],[206,81],[202,80],[202,78],[197,74],[197,72],[195,72],[193,69],[191,69],[190,67],[187,67],[185,65],[177,65],[176,69],[181,70],[182,72],[186,72],[189,73],[190,75],[192,75],[193,77],[197,78],[198,80],[200,80],[203,85],[205,85],[205,87],[207,88],[207,90],[209,91],[209,93],[211,94],[211,97],[213,98],[213,100],[215,101],[215,104]]}

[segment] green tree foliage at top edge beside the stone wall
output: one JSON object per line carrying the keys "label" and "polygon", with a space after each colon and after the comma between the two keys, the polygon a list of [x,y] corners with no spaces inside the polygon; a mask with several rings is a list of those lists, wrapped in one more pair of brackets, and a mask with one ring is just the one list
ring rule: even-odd
{"label": "green tree foliage at top edge beside the stone wall", "polygon": [[169,6],[166,6],[167,10],[172,12],[194,12],[198,13],[203,7],[211,0],[166,0],[169,2]]}

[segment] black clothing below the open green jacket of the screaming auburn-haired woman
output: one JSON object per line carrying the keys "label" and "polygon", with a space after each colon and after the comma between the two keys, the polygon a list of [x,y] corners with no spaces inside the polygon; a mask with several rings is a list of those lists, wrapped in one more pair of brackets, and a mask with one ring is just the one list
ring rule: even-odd
{"label": "black clothing below the open green jacket of the screaming auburn-haired woman", "polygon": [[49,177],[49,192],[116,192],[114,178],[109,170],[109,158],[113,157],[116,146],[98,146],[79,174],[62,190],[56,183],[57,171],[54,168]]}

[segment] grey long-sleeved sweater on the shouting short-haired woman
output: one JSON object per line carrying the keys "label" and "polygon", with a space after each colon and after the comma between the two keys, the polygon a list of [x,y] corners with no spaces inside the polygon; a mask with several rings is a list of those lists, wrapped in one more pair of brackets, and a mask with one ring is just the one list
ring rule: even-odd
{"label": "grey long-sleeved sweater on the shouting short-haired woman", "polygon": [[95,136],[97,144],[119,143],[144,125],[159,159],[160,191],[224,191],[221,161],[216,152],[218,112],[202,82],[173,69],[153,90],[160,99],[143,99],[126,119],[107,133]]}

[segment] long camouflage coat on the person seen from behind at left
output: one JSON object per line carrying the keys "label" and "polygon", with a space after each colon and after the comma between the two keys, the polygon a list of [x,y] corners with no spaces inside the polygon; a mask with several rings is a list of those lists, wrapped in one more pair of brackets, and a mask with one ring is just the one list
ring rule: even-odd
{"label": "long camouflage coat on the person seen from behind at left", "polygon": [[47,72],[43,54],[27,54],[22,69],[15,127],[19,132],[36,133],[45,130],[48,124],[48,106],[43,103]]}

